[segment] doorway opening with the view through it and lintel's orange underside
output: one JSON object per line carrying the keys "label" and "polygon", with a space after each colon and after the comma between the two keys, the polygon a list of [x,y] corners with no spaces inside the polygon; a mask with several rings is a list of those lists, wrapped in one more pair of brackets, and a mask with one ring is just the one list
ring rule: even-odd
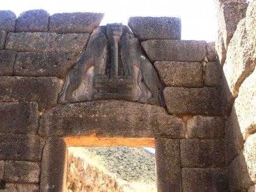
{"label": "doorway opening with the view through it and lintel's orange underside", "polygon": [[145,139],[87,137],[85,147],[84,143],[81,147],[81,142],[74,146],[78,141],[71,140],[73,145],[68,147],[67,159],[68,192],[157,191],[154,153],[145,148],[154,147],[154,140],[149,139],[147,145],[141,146],[146,144]]}

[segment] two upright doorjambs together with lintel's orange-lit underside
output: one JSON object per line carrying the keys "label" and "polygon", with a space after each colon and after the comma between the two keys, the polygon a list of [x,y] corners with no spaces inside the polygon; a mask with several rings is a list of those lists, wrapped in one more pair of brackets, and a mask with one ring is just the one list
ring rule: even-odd
{"label": "two upright doorjambs together with lintel's orange-lit underside", "polygon": [[[156,142],[155,146],[154,142]],[[167,189],[181,191],[179,139],[99,139],[95,136],[48,137],[42,156],[40,191],[66,191],[67,147],[69,146],[155,147],[158,191],[166,191]]]}

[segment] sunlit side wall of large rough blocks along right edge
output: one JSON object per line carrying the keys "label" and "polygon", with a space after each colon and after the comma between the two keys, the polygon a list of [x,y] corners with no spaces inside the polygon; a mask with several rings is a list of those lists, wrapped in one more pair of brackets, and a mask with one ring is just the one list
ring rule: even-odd
{"label": "sunlit side wall of large rough blocks along right edge", "polygon": [[256,184],[256,1],[216,0],[229,191]]}

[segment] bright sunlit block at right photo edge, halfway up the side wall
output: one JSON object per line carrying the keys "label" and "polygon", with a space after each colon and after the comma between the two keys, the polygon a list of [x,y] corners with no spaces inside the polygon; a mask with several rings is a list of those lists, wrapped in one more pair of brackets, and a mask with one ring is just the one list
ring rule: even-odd
{"label": "bright sunlit block at right photo edge, halfway up the side wall", "polygon": [[241,134],[246,139],[256,131],[256,70],[241,84],[233,107]]}

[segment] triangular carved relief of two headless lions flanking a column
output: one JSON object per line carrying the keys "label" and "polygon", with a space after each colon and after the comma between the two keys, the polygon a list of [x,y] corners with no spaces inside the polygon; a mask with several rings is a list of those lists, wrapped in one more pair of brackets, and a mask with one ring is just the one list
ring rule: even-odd
{"label": "triangular carved relief of two headless lions flanking a column", "polygon": [[117,99],[164,105],[156,70],[127,26],[95,29],[66,76],[59,103]]}

